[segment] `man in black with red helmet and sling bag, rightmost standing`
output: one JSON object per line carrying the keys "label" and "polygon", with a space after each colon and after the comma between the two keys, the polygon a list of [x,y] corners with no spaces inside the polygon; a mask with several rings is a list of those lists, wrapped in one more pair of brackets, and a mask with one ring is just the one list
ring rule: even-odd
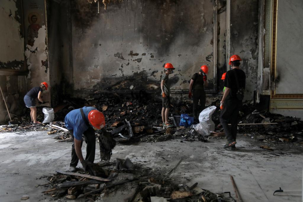
{"label": "man in black with red helmet and sling bag, rightmost standing", "polygon": [[[221,100],[220,122],[225,131],[228,142],[224,148],[231,147],[231,150],[237,150],[235,144],[238,127],[238,114],[242,106],[243,97],[239,96],[239,89],[245,89],[245,73],[239,68],[241,58],[233,55],[229,59],[231,70],[226,72],[224,86],[225,91]],[[228,126],[231,124],[231,127]]]}

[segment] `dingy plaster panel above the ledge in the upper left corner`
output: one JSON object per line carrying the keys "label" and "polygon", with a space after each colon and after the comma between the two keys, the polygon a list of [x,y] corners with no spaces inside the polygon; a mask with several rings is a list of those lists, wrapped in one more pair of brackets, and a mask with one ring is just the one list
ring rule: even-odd
{"label": "dingy plaster panel above the ledge in the upper left corner", "polygon": [[19,34],[20,23],[14,18],[16,11],[15,1],[0,1],[0,62],[3,63],[24,60],[24,39]]}

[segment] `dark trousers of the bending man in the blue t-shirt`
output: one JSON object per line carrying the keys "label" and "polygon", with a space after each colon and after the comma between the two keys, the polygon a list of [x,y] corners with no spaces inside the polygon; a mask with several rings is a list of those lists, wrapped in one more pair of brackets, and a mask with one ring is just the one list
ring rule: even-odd
{"label": "dark trousers of the bending man in the blue t-shirt", "polygon": [[[73,144],[72,144],[72,160],[69,166],[76,167],[79,162],[79,158],[76,154],[75,150],[75,137],[74,137],[74,130],[68,130],[69,134],[72,136]],[[95,160],[95,150],[96,150],[96,136],[95,130],[92,127],[88,127],[87,130],[83,133],[86,145],[86,157],[85,160],[88,160],[91,163],[94,163]],[[83,140],[81,140],[81,148],[82,148]]]}

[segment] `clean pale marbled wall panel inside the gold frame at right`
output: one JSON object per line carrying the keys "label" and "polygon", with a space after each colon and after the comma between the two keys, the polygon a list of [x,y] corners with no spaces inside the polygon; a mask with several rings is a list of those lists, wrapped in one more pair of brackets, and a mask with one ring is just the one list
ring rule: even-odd
{"label": "clean pale marbled wall panel inside the gold frame at right", "polygon": [[303,1],[278,1],[276,93],[303,93]]}

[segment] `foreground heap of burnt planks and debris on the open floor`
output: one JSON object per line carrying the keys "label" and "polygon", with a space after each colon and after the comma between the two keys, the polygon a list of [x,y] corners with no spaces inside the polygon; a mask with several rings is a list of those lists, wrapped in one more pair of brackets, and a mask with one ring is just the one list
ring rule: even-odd
{"label": "foreground heap of burnt planks and debris on the open floor", "polygon": [[227,194],[215,194],[200,189],[197,187],[198,183],[191,186],[172,183],[173,180],[168,176],[174,169],[165,177],[151,168],[143,168],[142,165],[120,170],[117,159],[116,167],[115,162],[94,164],[97,176],[57,171],[57,174],[48,177],[49,183],[44,184],[48,190],[44,193],[51,195],[54,200],[85,198],[92,201],[234,201]]}

